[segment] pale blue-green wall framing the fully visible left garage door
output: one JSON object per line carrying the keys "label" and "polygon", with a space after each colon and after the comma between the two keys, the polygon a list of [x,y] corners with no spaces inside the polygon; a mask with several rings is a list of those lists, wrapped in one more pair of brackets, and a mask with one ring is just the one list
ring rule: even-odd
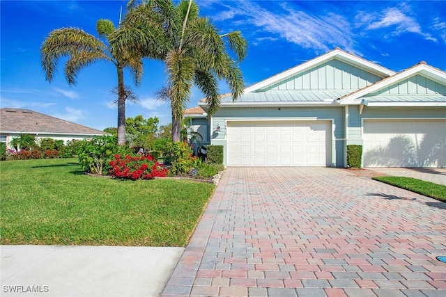
{"label": "pale blue-green wall framing the fully visible left garage door", "polygon": [[[231,120],[331,120],[332,163],[344,166],[344,106],[337,107],[264,107],[264,108],[221,108],[210,121],[211,144],[224,146],[224,164],[227,164],[226,127]],[[220,131],[217,131],[220,127]]]}

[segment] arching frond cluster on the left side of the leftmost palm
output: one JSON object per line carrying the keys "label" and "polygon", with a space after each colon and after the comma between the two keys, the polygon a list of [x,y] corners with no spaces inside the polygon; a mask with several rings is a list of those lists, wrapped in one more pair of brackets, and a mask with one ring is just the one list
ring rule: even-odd
{"label": "arching frond cluster on the left side of the leftmost palm", "polygon": [[77,72],[83,66],[97,59],[112,61],[106,53],[107,46],[93,35],[77,28],[61,28],[50,32],[45,38],[40,47],[40,63],[45,78],[52,81],[59,58],[68,56],[66,77],[68,83],[75,84]]}

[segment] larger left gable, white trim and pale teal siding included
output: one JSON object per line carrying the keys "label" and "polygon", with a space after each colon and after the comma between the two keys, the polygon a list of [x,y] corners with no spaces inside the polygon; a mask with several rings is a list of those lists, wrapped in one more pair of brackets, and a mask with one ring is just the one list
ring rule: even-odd
{"label": "larger left gable, white trim and pale teal siding included", "polygon": [[357,90],[394,73],[346,51],[334,49],[255,83],[245,88],[245,93],[268,90]]}

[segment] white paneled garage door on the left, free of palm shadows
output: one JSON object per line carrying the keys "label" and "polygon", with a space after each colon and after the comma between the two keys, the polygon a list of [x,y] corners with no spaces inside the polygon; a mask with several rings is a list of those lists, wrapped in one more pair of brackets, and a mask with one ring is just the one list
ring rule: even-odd
{"label": "white paneled garage door on the left, free of palm shadows", "polygon": [[228,166],[330,166],[330,122],[228,122]]}

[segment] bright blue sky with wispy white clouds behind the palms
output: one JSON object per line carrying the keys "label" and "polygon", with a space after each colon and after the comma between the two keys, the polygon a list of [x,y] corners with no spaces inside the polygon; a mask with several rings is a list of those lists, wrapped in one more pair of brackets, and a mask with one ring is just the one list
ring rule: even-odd
{"label": "bright blue sky with wispy white clouds behind the palms", "polygon": [[[96,129],[116,127],[112,104],[114,65],[99,62],[79,72],[68,86],[59,65],[48,83],[40,67],[40,45],[61,27],[95,32],[98,19],[119,20],[127,1],[0,1],[1,107],[31,109]],[[200,0],[201,15],[221,33],[240,30],[248,54],[240,67],[247,86],[340,47],[395,71],[426,61],[446,70],[446,1],[222,1]],[[63,62],[63,61],[61,61]],[[126,84],[132,85],[130,75]],[[155,92],[166,73],[159,61],[144,61],[141,102],[128,102],[126,116],[171,120],[167,103]],[[228,88],[222,83],[221,93]],[[202,95],[192,92],[188,107]],[[0,119],[1,120],[1,119]]]}

